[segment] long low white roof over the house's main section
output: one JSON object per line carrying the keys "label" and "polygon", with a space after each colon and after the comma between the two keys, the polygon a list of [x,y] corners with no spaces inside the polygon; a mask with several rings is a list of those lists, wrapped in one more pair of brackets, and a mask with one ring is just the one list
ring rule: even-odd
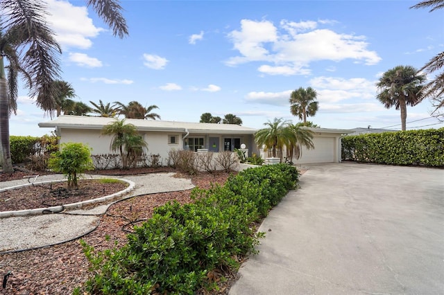
{"label": "long low white roof over the house's main section", "polygon": [[[39,127],[55,127],[69,129],[102,129],[116,118],[94,116],[58,116],[54,120],[39,123]],[[120,120],[120,119],[119,119]],[[139,131],[157,132],[190,132],[194,134],[254,134],[257,129],[234,125],[212,123],[187,123],[165,120],[125,119]]]}

